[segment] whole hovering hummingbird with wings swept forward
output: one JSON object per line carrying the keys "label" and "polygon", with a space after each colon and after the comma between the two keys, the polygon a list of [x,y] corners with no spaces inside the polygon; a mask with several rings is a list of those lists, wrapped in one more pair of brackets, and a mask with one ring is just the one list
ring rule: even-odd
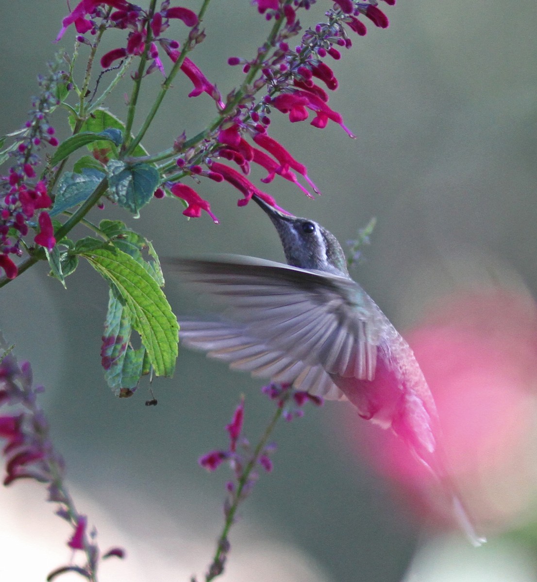
{"label": "whole hovering hummingbird with wings swept forward", "polygon": [[[411,347],[351,279],[333,234],[253,200],[275,226],[287,264],[239,255],[174,260],[183,281],[225,307],[211,321],[179,320],[183,345],[254,377],[348,400],[445,483],[437,410]],[[481,544],[452,487],[450,497],[468,537]]]}

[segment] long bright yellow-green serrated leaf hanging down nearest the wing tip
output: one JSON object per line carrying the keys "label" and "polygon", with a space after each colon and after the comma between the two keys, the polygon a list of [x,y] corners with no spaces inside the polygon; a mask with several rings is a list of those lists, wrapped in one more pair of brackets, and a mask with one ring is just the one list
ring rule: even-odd
{"label": "long bright yellow-green serrated leaf hanging down nearest the wing tip", "polygon": [[157,376],[171,376],[177,357],[179,326],[162,289],[129,254],[111,244],[80,253],[112,283],[132,314],[132,327],[140,334]]}

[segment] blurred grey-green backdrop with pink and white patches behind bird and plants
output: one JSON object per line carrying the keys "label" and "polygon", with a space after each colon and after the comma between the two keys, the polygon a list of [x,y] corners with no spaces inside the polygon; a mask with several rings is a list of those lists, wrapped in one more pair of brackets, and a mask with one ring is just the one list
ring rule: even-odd
{"label": "blurred grey-green backdrop with pink and white patches behind bird and plants", "polygon": [[[328,5],[319,0],[303,25],[322,20]],[[224,579],[535,581],[537,10],[531,0],[381,8],[390,28],[368,23],[366,37],[351,33],[352,49],[328,62],[340,81],[330,105],[356,140],[333,123],[320,130],[273,113],[271,135],[308,166],[322,196],[308,200],[279,179],[264,190],[342,243],[377,218],[352,275],[414,347],[458,487],[489,542],[472,548],[453,529],[390,435],[351,406],[327,402],[277,428],[274,471],[241,508]],[[67,13],[61,0],[0,0],[0,134],[26,120]],[[270,24],[247,0],[214,1],[204,24],[206,41],[191,56],[225,95],[242,78],[227,58],[252,58]],[[181,40],[183,32],[177,25],[169,34]],[[63,37],[68,51],[74,36],[71,27]],[[124,36],[110,34],[104,49]],[[147,84],[146,108],[159,81],[154,73]],[[190,88],[177,77],[144,142],[150,152],[213,118],[214,102],[189,100]],[[126,82],[108,104],[123,119],[128,90]],[[236,190],[209,182],[199,191],[219,225],[206,214],[188,221],[168,199],[137,221],[109,204],[93,219],[130,222],[162,257],[222,251],[283,260],[259,208],[238,208]],[[166,288],[175,313],[197,305],[172,274]],[[157,407],[144,406],[145,386],[116,399],[99,355],[107,286],[91,268],[81,265],[63,290],[37,265],[2,296],[0,328],[46,387],[77,506],[101,548],[126,548],[127,559],[105,563],[101,579],[201,577],[221,530],[228,470],[207,474],[197,458],[226,445],[224,426],[242,394],[245,431],[256,441],[273,410],[262,383],[180,350],[175,378],[153,384]],[[44,579],[69,559],[68,527],[36,483],[1,494],[0,574]]]}

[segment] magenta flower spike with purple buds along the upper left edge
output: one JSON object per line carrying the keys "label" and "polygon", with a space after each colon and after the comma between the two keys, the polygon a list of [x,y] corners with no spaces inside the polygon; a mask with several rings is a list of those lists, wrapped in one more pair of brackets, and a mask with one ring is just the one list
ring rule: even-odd
{"label": "magenta flower spike with purple buds along the upper left edge", "polygon": [[41,160],[38,151],[45,145],[58,145],[55,129],[50,125],[50,113],[59,105],[56,97],[65,72],[58,70],[59,63],[50,65],[48,76],[38,78],[40,96],[34,98],[29,120],[15,134],[15,144],[9,151],[12,162],[7,175],[0,176],[0,267],[9,279],[17,276],[15,262],[9,257],[20,257],[22,239],[35,228],[36,212],[39,212],[39,233],[34,242],[47,249],[56,243],[54,229],[48,212],[52,200],[48,195],[47,182],[36,180],[36,167]]}

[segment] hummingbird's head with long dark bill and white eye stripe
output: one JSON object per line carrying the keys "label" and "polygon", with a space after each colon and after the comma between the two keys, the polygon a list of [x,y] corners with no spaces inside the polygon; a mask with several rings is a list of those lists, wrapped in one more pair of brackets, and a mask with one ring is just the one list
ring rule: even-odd
{"label": "hummingbird's head with long dark bill and white eye stripe", "polygon": [[345,253],[331,232],[308,218],[284,214],[258,196],[252,198],[276,227],[289,265],[349,277]]}

